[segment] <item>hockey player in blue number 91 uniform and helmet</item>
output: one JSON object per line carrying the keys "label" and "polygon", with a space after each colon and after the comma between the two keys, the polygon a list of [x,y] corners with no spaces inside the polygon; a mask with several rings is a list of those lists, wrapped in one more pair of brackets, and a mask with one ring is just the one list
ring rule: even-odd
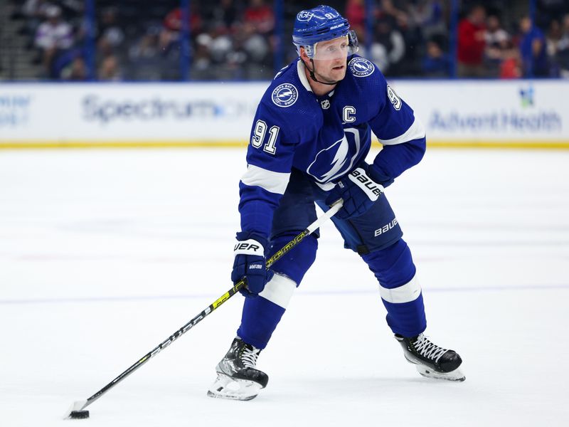
{"label": "hockey player in blue number 91 uniform and helmet", "polygon": [[[318,247],[312,234],[265,270],[265,259],[316,220],[332,217],[344,246],[376,275],[387,322],[408,362],[423,376],[464,380],[459,355],[425,337],[425,308],[415,265],[383,189],[422,159],[425,130],[377,66],[356,56],[349,23],[329,6],[301,11],[292,40],[299,58],[280,70],[252,124],[248,170],[240,187],[241,231],[231,279],[245,278],[237,337],[216,367],[209,396],[249,400],[267,386],[256,368],[294,289]],[[364,159],[371,132],[383,144]]]}

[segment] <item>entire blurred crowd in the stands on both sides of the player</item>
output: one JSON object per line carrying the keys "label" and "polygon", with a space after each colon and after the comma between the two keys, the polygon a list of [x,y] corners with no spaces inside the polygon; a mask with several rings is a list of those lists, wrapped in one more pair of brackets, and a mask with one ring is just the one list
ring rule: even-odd
{"label": "entire blurred crowd in the stands on both sides of the player", "polygon": [[[283,1],[277,31],[269,0],[193,0],[189,11],[179,0],[94,3],[93,21],[83,0],[12,1],[38,78],[179,80],[184,55],[194,80],[272,78],[296,56],[295,14],[317,4]],[[537,0],[533,19],[530,1],[463,0],[452,11],[450,1],[375,0],[371,13],[366,0],[325,3],[389,77],[569,78],[569,1]]]}

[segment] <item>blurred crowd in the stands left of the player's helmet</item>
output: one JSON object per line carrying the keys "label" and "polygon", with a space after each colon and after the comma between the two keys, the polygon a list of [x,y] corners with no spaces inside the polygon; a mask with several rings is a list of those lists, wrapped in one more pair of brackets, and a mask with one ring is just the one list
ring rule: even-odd
{"label": "blurred crowd in the stands left of the player's helmet", "polygon": [[14,3],[39,78],[179,80],[185,41],[193,79],[273,75],[275,12],[265,0],[191,1],[186,13],[179,0],[97,0],[94,28],[81,0]]}

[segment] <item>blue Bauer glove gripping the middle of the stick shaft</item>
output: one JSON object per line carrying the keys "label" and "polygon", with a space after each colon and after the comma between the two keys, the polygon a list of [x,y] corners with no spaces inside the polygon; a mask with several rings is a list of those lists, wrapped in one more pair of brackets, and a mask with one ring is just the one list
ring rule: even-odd
{"label": "blue Bauer glove gripping the middle of the stick shaft", "polygon": [[235,260],[231,280],[238,283],[245,280],[245,286],[240,289],[246,297],[256,297],[272,278],[272,271],[265,268],[265,248],[268,246],[266,238],[247,231],[237,233],[235,244]]}

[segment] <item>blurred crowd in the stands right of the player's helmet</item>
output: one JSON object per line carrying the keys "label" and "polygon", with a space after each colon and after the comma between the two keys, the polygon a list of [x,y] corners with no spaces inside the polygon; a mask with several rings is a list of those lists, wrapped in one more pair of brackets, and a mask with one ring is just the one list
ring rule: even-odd
{"label": "blurred crowd in the stands right of the player's helmet", "polygon": [[[366,1],[346,1],[363,56],[385,75],[446,78],[569,78],[569,1],[462,1],[451,33],[450,1],[375,2],[366,43]],[[455,69],[454,69],[455,68]]]}

